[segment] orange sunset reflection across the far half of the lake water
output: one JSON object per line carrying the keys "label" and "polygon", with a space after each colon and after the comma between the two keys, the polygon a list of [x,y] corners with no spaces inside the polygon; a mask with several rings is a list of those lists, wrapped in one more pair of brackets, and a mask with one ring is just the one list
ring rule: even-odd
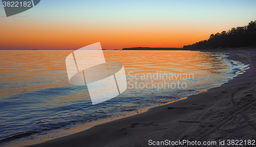
{"label": "orange sunset reflection across the far half of the lake water", "polygon": [[[69,85],[65,59],[73,51],[1,51],[1,83],[12,83],[1,89],[2,96],[47,87]],[[225,60],[211,53],[192,51],[103,51],[106,61],[124,64],[126,76],[136,74],[193,74],[195,79],[220,75],[231,70]],[[223,70],[225,69],[225,70]],[[130,74],[129,74],[130,72]],[[200,78],[199,78],[200,79]],[[48,81],[47,83],[45,81]],[[51,82],[52,80],[52,82]],[[55,80],[59,80],[57,83]],[[221,81],[223,77],[202,79],[201,85]],[[50,82],[49,82],[50,81]],[[187,81],[193,84],[193,81]],[[67,97],[71,99],[71,97]]]}

